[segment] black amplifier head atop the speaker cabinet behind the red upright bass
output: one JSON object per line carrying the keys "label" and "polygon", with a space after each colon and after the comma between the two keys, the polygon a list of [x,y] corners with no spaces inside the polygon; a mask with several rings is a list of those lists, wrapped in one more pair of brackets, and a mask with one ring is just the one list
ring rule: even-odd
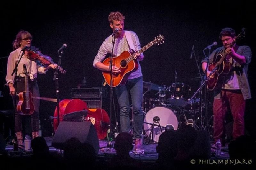
{"label": "black amplifier head atop the speaker cabinet behind the red upright bass", "polygon": [[[101,88],[71,89],[72,98],[100,99]],[[106,89],[102,88],[102,98],[106,98]]]}

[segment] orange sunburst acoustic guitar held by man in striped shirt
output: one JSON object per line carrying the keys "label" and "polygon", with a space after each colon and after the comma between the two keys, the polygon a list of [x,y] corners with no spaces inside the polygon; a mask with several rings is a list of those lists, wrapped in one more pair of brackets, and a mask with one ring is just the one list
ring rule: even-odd
{"label": "orange sunburst acoustic guitar held by man in striped shirt", "polygon": [[[153,41],[151,41],[146,46],[141,48],[138,51],[138,53],[143,53],[151,46],[153,46],[155,44],[159,45],[159,43],[162,44],[162,42],[164,43],[164,36],[159,34],[159,36],[157,36]],[[106,66],[109,66],[110,65],[110,57],[105,59],[102,63]],[[136,71],[139,67],[139,63],[136,60],[135,53],[130,53],[129,51],[124,51],[119,56],[117,56],[115,58],[113,57],[112,63],[113,63],[113,66],[116,66],[121,70],[120,73],[112,74],[112,82],[113,82],[112,87],[116,87],[119,84],[121,84],[121,85],[125,84],[129,75],[132,72]],[[105,81],[110,86],[110,71],[103,71],[102,74],[103,74]]]}

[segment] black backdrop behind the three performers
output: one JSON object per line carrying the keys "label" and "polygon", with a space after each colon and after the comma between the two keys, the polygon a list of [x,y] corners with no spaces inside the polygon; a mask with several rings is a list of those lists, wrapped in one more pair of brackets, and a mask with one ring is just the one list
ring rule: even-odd
{"label": "black backdrop behind the three performers", "polygon": [[[91,4],[92,3],[92,4]],[[176,4],[176,5],[174,5]],[[208,4],[208,5],[206,5]],[[71,89],[76,88],[86,77],[91,87],[101,87],[103,76],[101,71],[92,66],[93,59],[101,43],[112,30],[108,23],[108,15],[112,11],[124,14],[124,29],[137,33],[141,47],[148,44],[158,34],[163,34],[165,43],[152,46],[144,52],[144,60],[140,62],[143,80],[158,85],[170,86],[174,82],[174,72],[177,70],[178,80],[189,84],[193,92],[199,88],[199,80],[191,79],[199,76],[195,56],[190,59],[191,48],[195,46],[196,59],[200,62],[205,56],[203,49],[218,42],[211,52],[222,46],[219,33],[222,28],[232,27],[238,34],[243,27],[246,37],[237,42],[239,45],[249,45],[252,49],[252,62],[249,66],[249,81],[252,99],[247,101],[246,130],[255,134],[255,89],[253,79],[255,64],[254,9],[250,1],[239,4],[219,3],[215,1],[192,3],[161,2],[161,1],[107,1],[104,3],[29,2],[19,4],[6,3],[1,5],[1,51],[0,51],[0,109],[12,109],[12,99],[9,89],[4,87],[7,57],[12,52],[12,41],[20,29],[30,32],[33,36],[33,46],[38,47],[43,54],[52,57],[58,63],[58,49],[64,44],[61,67],[67,74],[60,74],[60,99],[71,99]],[[209,51],[205,50],[208,56]],[[6,58],[3,58],[6,57]],[[199,63],[201,70],[201,62]],[[38,75],[38,84],[42,97],[56,98],[54,71]],[[109,88],[108,86],[106,86]],[[116,101],[115,101],[116,102]],[[106,110],[109,101],[106,100]],[[51,131],[48,119],[53,116],[56,103],[41,101],[40,119],[46,132]],[[118,109],[113,110],[113,122]]]}

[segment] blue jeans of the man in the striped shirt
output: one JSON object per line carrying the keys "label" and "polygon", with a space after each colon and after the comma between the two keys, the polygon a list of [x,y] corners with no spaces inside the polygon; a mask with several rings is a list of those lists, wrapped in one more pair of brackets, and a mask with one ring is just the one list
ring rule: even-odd
{"label": "blue jeans of the man in the striped shirt", "polygon": [[120,106],[120,124],[122,132],[130,131],[130,103],[129,91],[133,109],[133,138],[140,139],[143,127],[143,80],[142,77],[127,80],[125,85],[116,87],[116,95]]}

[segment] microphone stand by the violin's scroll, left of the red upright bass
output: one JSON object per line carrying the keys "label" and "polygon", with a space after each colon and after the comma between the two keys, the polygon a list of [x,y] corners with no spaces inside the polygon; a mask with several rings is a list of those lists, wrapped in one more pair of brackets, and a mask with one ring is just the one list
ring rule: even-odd
{"label": "microphone stand by the violin's scroll, left of the red upright bass", "polygon": [[[60,52],[60,54],[59,54]],[[58,66],[54,72],[54,77],[53,77],[53,81],[55,81],[55,88],[56,88],[56,97],[57,97],[57,119],[58,119],[58,126],[60,124],[60,98],[59,98],[59,73],[58,73],[58,68],[60,66],[61,63],[61,55],[63,54],[63,50],[59,50],[58,51],[59,54],[59,61],[58,61]]]}

